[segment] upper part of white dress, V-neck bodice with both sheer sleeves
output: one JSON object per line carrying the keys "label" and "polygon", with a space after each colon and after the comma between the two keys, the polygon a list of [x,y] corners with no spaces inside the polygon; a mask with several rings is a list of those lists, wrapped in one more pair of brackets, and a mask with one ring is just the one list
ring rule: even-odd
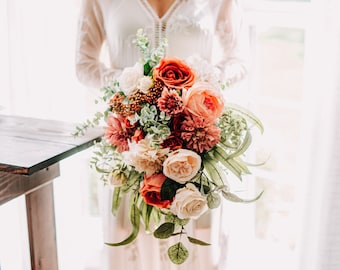
{"label": "upper part of white dress, V-neck bodice with both sheer sleeves", "polygon": [[[140,54],[132,41],[137,30],[143,28],[153,48],[161,39],[168,40],[166,55],[186,59],[196,54],[222,69],[232,62],[234,74],[228,79],[240,79],[245,68],[238,55],[238,22],[232,21],[230,1],[175,0],[159,18],[147,0],[83,0],[78,78],[100,87],[123,68],[133,66]],[[104,42],[109,55],[107,65],[100,61]]]}

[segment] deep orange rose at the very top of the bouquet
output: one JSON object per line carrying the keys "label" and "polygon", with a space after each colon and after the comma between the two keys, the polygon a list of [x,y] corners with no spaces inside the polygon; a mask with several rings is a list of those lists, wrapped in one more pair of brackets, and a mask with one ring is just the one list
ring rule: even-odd
{"label": "deep orange rose at the very top of the bouquet", "polygon": [[178,58],[163,58],[153,70],[154,79],[161,80],[170,89],[190,88],[195,81],[192,69]]}

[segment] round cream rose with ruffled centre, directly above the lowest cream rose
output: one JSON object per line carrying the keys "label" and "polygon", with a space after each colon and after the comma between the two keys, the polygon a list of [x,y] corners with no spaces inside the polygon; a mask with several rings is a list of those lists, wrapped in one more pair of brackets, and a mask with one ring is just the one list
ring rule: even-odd
{"label": "round cream rose with ruffled centre, directly above the lowest cream rose", "polygon": [[164,175],[181,184],[190,181],[200,168],[201,157],[187,149],[171,152],[163,163]]}

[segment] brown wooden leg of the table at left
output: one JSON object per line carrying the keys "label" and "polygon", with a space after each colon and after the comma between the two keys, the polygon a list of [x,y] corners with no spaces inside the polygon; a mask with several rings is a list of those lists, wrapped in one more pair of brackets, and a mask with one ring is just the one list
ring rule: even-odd
{"label": "brown wooden leg of the table at left", "polygon": [[57,270],[53,182],[26,195],[32,270]]}

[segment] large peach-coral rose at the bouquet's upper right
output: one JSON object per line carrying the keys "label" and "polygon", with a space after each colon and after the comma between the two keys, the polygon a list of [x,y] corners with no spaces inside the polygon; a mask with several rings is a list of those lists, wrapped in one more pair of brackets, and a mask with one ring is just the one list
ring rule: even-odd
{"label": "large peach-coral rose at the bouquet's upper right", "polygon": [[184,108],[207,122],[215,122],[223,113],[222,94],[207,82],[195,83],[188,90],[184,89],[182,100]]}

